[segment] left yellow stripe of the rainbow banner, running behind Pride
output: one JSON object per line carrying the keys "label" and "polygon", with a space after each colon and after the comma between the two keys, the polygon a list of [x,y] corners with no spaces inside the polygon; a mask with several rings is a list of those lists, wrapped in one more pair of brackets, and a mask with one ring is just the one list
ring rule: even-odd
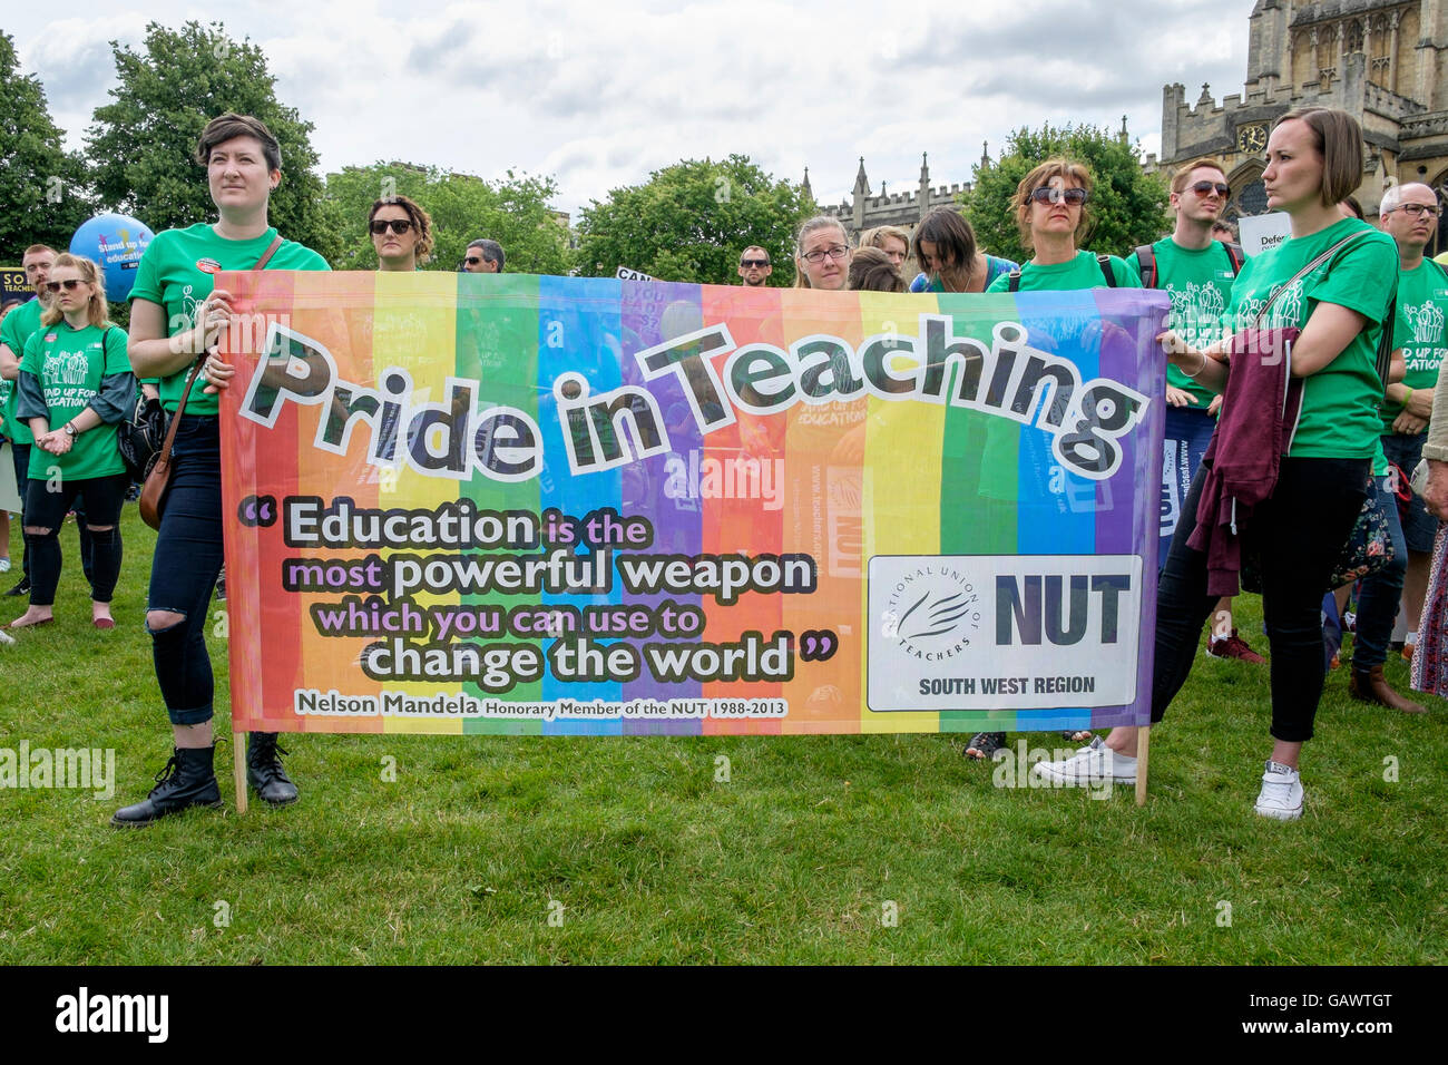
{"label": "left yellow stripe of the rainbow banner, running behind Pride", "polygon": [[[455,372],[458,320],[458,275],[442,271],[417,271],[413,274],[376,274],[376,300],[372,314],[372,364],[381,374],[387,367],[400,367],[413,378],[413,404],[447,403],[447,377]],[[473,397],[476,401],[476,397]],[[407,419],[408,422],[411,419]],[[407,446],[407,423],[398,432],[398,458]],[[433,440],[433,452],[440,445]],[[459,485],[447,477],[423,477],[400,467],[382,471],[378,506],[433,509],[458,498]],[[384,552],[384,556],[395,552]],[[456,606],[462,601],[458,593],[421,593],[414,601],[423,610],[430,606]],[[411,642],[430,640],[430,635],[411,636]],[[439,694],[462,691],[462,681],[391,681],[391,691],[405,691],[410,696],[430,698]],[[410,733],[462,733],[462,719],[440,717],[388,717],[387,732]]]}

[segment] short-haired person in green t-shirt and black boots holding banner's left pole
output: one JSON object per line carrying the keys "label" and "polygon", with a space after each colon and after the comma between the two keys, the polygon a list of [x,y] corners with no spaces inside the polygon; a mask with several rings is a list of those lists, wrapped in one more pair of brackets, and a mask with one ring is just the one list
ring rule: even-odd
{"label": "short-haired person in green t-shirt and black boots holding banner's left pole", "polygon": [[[143,826],[222,801],[211,762],[216,746],[206,629],[223,559],[216,388],[232,371],[210,354],[233,309],[232,294],[214,288],[213,275],[224,270],[329,270],[317,252],[282,241],[266,220],[271,193],[281,184],[281,146],[262,122],[232,113],[213,119],[201,130],[195,161],[206,167],[217,220],[158,233],[140,258],[130,293],[130,364],[136,375],[161,378],[161,403],[172,417],[185,401],[146,610],[175,751],[149,797],[117,810],[113,824]],[[193,378],[204,380],[188,390]],[[249,736],[246,777],[274,806],[297,800],[278,751],[275,735]]]}

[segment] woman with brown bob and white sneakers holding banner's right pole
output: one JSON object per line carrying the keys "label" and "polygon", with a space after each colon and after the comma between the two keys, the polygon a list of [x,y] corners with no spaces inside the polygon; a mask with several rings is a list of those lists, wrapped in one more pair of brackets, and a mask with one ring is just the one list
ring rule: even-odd
{"label": "woman with brown bob and white sneakers holding banner's right pole", "polygon": [[[1361,178],[1363,130],[1352,116],[1306,107],[1277,119],[1263,183],[1267,206],[1289,216],[1292,238],[1247,261],[1229,309],[1239,329],[1300,330],[1286,351],[1290,377],[1302,381],[1302,410],[1295,432],[1287,426],[1267,442],[1280,446],[1277,478],[1270,498],[1253,509],[1245,530],[1248,545],[1261,556],[1263,613],[1271,643],[1273,748],[1255,809],[1279,820],[1302,816],[1297,762],[1303,742],[1312,738],[1326,671],[1322,594],[1368,496],[1381,432],[1378,341],[1384,327],[1392,329],[1397,249],[1387,233],[1338,210],[1338,201]],[[1228,368],[1245,374],[1247,383],[1270,375],[1283,383],[1279,391],[1286,384],[1287,378],[1277,377],[1280,343],[1264,351],[1239,333],[1195,351],[1174,333],[1160,339],[1170,361],[1212,391],[1225,390]],[[1234,393],[1242,394],[1242,409],[1251,409],[1253,398],[1241,387],[1238,383]],[[1224,409],[1213,438],[1219,454],[1232,448],[1239,454],[1244,442],[1257,446],[1244,420],[1241,412],[1234,420]],[[1208,594],[1209,555],[1187,542],[1203,487],[1212,488],[1208,480],[1203,467],[1187,493],[1157,588],[1153,722],[1161,720],[1186,681],[1215,603],[1215,594]],[[1213,561],[1218,558],[1213,552]],[[1112,729],[1105,742],[1098,739],[1063,762],[1043,762],[1037,772],[1066,782],[1131,782],[1135,742],[1135,727]]]}

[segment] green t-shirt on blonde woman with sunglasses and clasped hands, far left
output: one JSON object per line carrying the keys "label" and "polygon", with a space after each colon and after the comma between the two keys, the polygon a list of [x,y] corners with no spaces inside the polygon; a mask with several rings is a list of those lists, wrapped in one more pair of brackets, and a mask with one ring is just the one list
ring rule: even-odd
{"label": "green t-shirt on blonde woman with sunglasses and clasped hands, far left", "polygon": [[[104,378],[130,374],[126,330],[120,326],[71,329],[64,320],[45,326],[25,345],[20,372],[39,378],[51,412],[49,427],[59,429],[90,406]],[[126,472],[116,451],[116,426],[101,423],[78,433],[64,455],[30,449],[30,477],[45,480],[51,467],[58,467],[67,481]]]}

